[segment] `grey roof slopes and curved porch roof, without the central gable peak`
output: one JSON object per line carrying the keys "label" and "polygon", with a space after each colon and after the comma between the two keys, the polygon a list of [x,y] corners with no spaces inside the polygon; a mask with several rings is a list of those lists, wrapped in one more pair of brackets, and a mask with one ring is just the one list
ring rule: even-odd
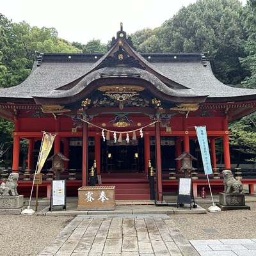
{"label": "grey roof slopes and curved porch roof, without the central gable peak", "polygon": [[[145,79],[156,88],[175,97],[202,97],[206,102],[255,100],[256,90],[233,88],[221,83],[212,74],[209,62],[202,61],[202,54],[138,54],[135,58],[147,70],[134,67],[104,67],[96,69],[106,60],[103,54],[42,54],[42,61],[35,62],[29,77],[21,84],[0,89],[0,101],[30,99],[33,97],[70,97],[99,77],[127,76]],[[122,74],[122,75],[121,75]],[[76,82],[77,81],[77,82]],[[71,90],[67,84],[77,83]],[[172,84],[174,84],[172,86]],[[79,89],[80,88],[80,89]]]}

